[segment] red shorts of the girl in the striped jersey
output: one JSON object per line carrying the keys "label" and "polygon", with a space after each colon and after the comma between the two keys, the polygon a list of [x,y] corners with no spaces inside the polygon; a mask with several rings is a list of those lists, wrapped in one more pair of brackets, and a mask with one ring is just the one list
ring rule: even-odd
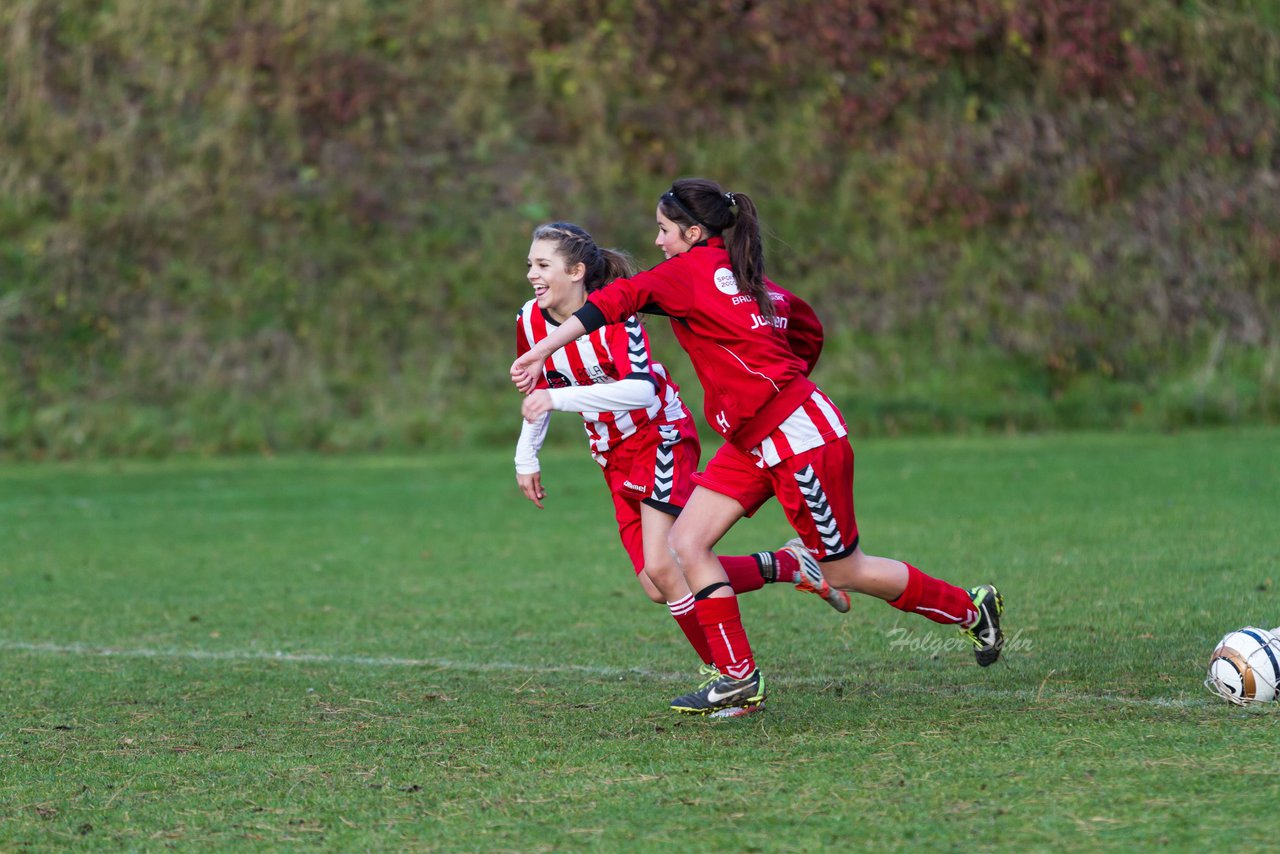
{"label": "red shorts of the girl in the striped jersey", "polygon": [[649,425],[609,451],[604,481],[613,494],[618,536],[636,575],[644,568],[640,503],[676,516],[694,492],[694,472],[703,446],[691,417],[676,424]]}

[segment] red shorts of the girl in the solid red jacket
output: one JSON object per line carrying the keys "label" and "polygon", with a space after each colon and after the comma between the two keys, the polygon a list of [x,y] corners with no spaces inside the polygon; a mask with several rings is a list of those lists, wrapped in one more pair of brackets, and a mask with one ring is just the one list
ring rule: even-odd
{"label": "red shorts of the girl in the solid red jacket", "polygon": [[846,437],[787,457],[769,469],[724,444],[694,483],[737,501],[748,516],[777,497],[805,548],[819,560],[845,557],[858,548],[854,515],[854,448]]}

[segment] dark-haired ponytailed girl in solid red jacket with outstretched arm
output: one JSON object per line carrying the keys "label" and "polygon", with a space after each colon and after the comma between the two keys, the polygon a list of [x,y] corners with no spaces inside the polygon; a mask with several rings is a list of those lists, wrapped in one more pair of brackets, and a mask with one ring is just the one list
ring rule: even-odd
{"label": "dark-haired ponytailed girl in solid red jacket with outstretched arm", "polygon": [[1004,599],[991,585],[964,590],[897,560],[865,554],[854,515],[854,455],[844,416],[809,379],[822,326],[795,294],[764,277],[754,202],[700,178],[675,182],[658,201],[657,246],[667,259],[593,292],[559,329],[511,366],[521,391],[548,353],[636,311],[671,318],[705,392],[707,421],[724,444],[676,520],[668,544],[712,640],[718,680],[672,702],[705,714],[763,702],[733,590],[714,545],[741,517],[777,497],[832,586],[961,627],[978,663],[1000,656]]}

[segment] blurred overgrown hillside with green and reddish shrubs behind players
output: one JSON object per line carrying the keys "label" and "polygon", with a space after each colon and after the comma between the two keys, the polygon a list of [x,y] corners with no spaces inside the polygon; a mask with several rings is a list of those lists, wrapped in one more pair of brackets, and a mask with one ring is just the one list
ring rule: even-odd
{"label": "blurred overgrown hillside with green and reddish shrubs behind players", "polygon": [[1275,423],[1277,92],[1270,0],[6,3],[0,456],[509,444],[530,229],[687,174],[858,433]]}

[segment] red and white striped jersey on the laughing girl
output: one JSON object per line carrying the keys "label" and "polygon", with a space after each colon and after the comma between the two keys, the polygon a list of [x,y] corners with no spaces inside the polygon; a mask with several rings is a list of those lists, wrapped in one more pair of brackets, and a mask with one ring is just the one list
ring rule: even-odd
{"label": "red and white striped jersey on the laughing girl", "polygon": [[[558,325],[538,307],[535,300],[526,302],[516,315],[516,355],[529,352],[547,337],[549,329]],[[582,412],[591,456],[602,466],[611,448],[648,424],[675,424],[682,417],[691,417],[680,399],[680,387],[667,375],[666,367],[652,361],[649,335],[635,315],[577,338],[543,364],[538,388],[595,385],[628,378],[643,378],[654,384],[657,397],[653,403],[635,410]]]}

